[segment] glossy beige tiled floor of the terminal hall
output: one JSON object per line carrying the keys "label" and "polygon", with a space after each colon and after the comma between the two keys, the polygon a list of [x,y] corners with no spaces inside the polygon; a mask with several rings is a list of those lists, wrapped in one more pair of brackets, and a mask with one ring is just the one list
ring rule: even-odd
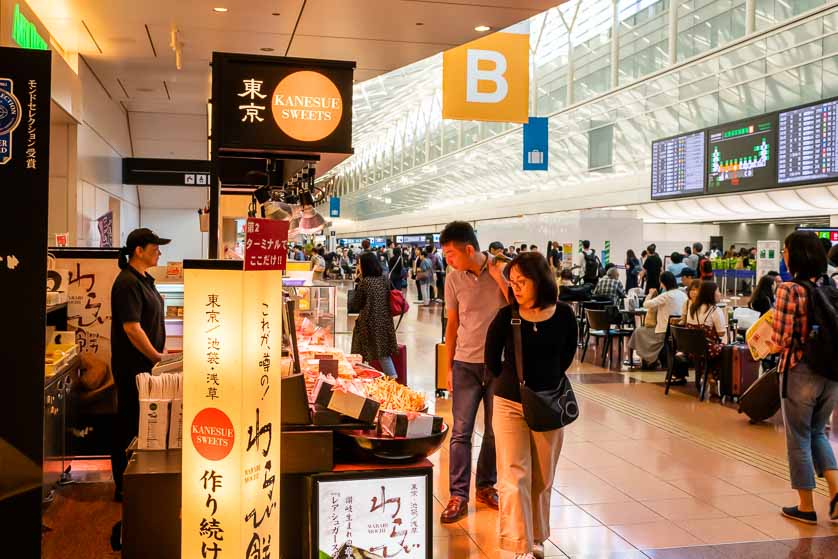
{"label": "glossy beige tiled floor of the terminal hall", "polygon": [[[399,338],[408,345],[409,383],[434,390],[434,344],[441,308],[411,310]],[[816,502],[822,518],[805,526],[780,516],[793,504],[787,479],[677,436],[644,421],[633,410],[664,416],[694,437],[712,437],[774,461],[785,460],[781,424],[750,425],[718,402],[687,394],[663,395],[656,375],[606,371],[575,363],[571,379],[585,392],[619,398],[615,409],[580,396],[578,421],[566,429],[554,483],[547,556],[611,558],[838,557],[838,526],[826,518],[825,497]],[[436,400],[436,412],[451,420],[451,402]],[[474,437],[476,461],[482,417]],[[838,448],[838,441],[833,441]],[[438,517],[447,503],[448,448],[433,457]],[[770,468],[769,468],[770,469]],[[497,513],[470,504],[454,525],[434,525],[434,559],[511,557],[497,545]],[[815,539],[808,539],[815,538]]]}

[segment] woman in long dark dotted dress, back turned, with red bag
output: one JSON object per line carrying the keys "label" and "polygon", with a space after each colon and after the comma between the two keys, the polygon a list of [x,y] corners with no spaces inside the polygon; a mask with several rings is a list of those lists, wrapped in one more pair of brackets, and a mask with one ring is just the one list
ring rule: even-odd
{"label": "woman in long dark dotted dress, back turned, with red bag", "polygon": [[367,363],[378,360],[384,374],[395,378],[391,356],[399,351],[399,346],[390,316],[389,281],[374,252],[363,253],[360,266],[361,280],[350,301],[350,310],[358,312],[352,330],[352,353],[363,355]]}

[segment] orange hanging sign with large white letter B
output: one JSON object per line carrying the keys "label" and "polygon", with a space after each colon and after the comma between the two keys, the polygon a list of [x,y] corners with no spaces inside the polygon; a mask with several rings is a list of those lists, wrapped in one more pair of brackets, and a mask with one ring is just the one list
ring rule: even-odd
{"label": "orange hanging sign with large white letter B", "polygon": [[527,122],[527,34],[494,33],[442,55],[442,118]]}

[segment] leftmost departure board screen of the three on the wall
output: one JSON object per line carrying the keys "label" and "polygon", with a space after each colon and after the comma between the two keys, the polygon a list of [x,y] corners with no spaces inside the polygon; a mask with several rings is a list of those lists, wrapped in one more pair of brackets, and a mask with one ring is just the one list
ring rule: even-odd
{"label": "leftmost departure board screen of the three on the wall", "polygon": [[652,142],[652,200],[704,194],[703,130]]}

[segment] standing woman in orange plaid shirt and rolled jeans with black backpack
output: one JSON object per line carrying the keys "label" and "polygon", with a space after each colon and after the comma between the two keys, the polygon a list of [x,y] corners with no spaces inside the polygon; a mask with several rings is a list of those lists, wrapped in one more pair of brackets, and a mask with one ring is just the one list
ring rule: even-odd
{"label": "standing woman in orange plaid shirt and rolled jeans with black backpack", "polygon": [[783,352],[783,420],[799,502],[782,514],[817,524],[812,500],[817,473],[829,484],[829,518],[838,523],[838,464],[824,432],[838,405],[838,290],[817,285],[826,272],[826,254],[814,233],[789,235],[783,260],[794,280],[777,288],[773,342]]}

